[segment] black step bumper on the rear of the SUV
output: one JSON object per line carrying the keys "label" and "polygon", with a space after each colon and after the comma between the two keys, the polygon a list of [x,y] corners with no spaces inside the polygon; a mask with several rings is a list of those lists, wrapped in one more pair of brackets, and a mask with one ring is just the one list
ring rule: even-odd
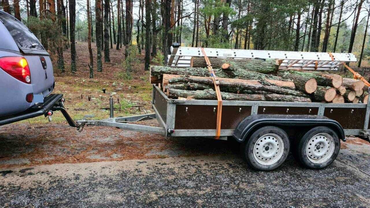
{"label": "black step bumper on the rear of the SUV", "polygon": [[38,117],[40,115],[46,115],[49,110],[53,110],[53,107],[61,104],[61,98],[63,98],[63,94],[50,94],[44,98],[44,103],[37,103],[21,113],[0,117],[0,126]]}

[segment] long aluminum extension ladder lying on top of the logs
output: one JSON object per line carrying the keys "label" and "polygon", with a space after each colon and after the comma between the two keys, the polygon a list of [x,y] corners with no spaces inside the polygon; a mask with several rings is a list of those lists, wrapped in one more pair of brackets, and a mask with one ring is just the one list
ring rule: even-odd
{"label": "long aluminum extension ladder lying on top of the logs", "polygon": [[[278,58],[283,60],[279,68],[304,70],[337,70],[342,62],[356,62],[352,53],[316,53],[297,51],[265,51],[241,50],[223,48],[204,48],[208,57],[218,58]],[[203,57],[202,49],[196,47],[182,47],[178,43],[171,46],[167,66],[190,67],[191,57]],[[316,62],[317,61],[317,62]]]}

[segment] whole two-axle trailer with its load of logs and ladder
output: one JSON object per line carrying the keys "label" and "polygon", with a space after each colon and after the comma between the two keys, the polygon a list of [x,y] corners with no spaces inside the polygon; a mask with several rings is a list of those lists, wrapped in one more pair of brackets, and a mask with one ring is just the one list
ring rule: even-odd
{"label": "whole two-axle trailer with its load of logs and ladder", "polygon": [[[289,152],[303,166],[321,169],[335,160],[347,135],[370,141],[369,90],[363,81],[319,71],[356,61],[353,54],[175,44],[171,51],[168,66],[151,66],[154,113],[114,117],[110,95],[110,118],[85,117],[76,122],[78,128],[95,125],[167,137],[231,138],[240,142],[250,167],[263,171],[279,167]],[[216,78],[205,68],[207,56]],[[135,123],[151,119],[160,126]]]}

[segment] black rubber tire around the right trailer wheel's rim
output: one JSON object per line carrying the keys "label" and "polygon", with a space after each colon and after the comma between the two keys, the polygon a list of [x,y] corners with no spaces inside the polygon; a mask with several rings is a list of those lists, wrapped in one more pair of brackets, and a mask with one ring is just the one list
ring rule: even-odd
{"label": "black rubber tire around the right trailer wheel's rim", "polygon": [[[323,162],[321,164],[316,164],[316,163],[311,162],[308,159],[308,156],[306,155],[306,146],[307,146],[309,140],[311,140],[311,138],[314,135],[319,134],[319,133],[326,133],[326,134],[329,134],[330,136],[332,136],[333,139],[334,139],[335,148],[334,148],[333,155],[332,155],[332,157],[329,158],[329,160],[327,160],[326,162]],[[305,135],[303,135],[303,137],[299,141],[299,144],[298,144],[297,148],[298,148],[299,162],[304,167],[310,168],[310,169],[323,169],[323,168],[326,168],[327,166],[329,166],[330,164],[332,164],[332,162],[337,158],[337,156],[339,154],[339,150],[340,150],[340,139],[339,139],[337,133],[329,127],[325,127],[325,126],[314,127],[311,130],[307,131],[307,133]]]}

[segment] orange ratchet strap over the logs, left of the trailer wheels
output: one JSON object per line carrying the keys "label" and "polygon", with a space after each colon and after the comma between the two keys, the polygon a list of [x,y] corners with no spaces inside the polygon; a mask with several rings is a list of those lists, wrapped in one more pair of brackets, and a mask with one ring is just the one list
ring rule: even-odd
{"label": "orange ratchet strap over the logs, left of the trailer wheels", "polygon": [[204,55],[204,59],[206,60],[207,63],[207,68],[209,73],[211,73],[211,77],[213,80],[213,84],[215,84],[215,90],[216,90],[216,95],[217,95],[217,120],[216,120],[216,136],[215,139],[219,139],[221,135],[221,112],[222,112],[222,97],[221,97],[221,91],[219,87],[219,80],[216,77],[215,72],[213,71],[213,68],[211,66],[211,62],[209,61],[209,58],[206,55],[206,52],[204,51],[204,48],[202,49],[202,53]]}

